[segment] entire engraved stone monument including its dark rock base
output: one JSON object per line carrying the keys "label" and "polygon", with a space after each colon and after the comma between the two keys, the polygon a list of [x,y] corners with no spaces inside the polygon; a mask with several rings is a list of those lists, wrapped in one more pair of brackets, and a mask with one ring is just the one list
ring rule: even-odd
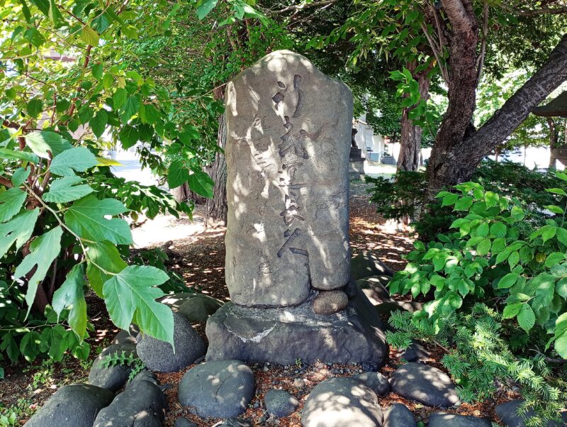
{"label": "entire engraved stone monument including its dark rock base", "polygon": [[207,360],[381,364],[381,323],[350,281],[349,88],[281,50],[225,102],[232,301],[207,322]]}

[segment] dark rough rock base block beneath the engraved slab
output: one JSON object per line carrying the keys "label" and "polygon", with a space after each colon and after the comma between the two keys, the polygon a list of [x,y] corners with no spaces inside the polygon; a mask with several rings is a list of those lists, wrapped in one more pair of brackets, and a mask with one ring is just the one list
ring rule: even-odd
{"label": "dark rough rock base block beneath the engraved slab", "polygon": [[383,365],[388,347],[381,321],[366,296],[358,291],[347,309],[327,316],[313,313],[316,295],[312,292],[299,306],[277,309],[225,304],[207,321],[206,360]]}

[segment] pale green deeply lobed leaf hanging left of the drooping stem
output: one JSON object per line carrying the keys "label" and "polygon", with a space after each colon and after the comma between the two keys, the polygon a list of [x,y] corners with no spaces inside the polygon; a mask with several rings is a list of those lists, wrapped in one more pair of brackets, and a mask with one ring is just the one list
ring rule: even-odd
{"label": "pale green deeply lobed leaf hanging left of the drooping stem", "polygon": [[[38,291],[38,284],[45,278],[47,270],[50,269],[51,263],[60,253],[61,235],[63,231],[60,226],[53,228],[47,233],[35,238],[30,245],[30,253],[22,260],[20,265],[16,267],[13,278],[21,279],[30,272],[33,267],[37,266],[33,276],[28,280],[28,292],[26,293],[26,302],[28,303],[28,312],[30,313],[31,305],[35,299],[35,293]],[[26,316],[27,316],[26,314]]]}

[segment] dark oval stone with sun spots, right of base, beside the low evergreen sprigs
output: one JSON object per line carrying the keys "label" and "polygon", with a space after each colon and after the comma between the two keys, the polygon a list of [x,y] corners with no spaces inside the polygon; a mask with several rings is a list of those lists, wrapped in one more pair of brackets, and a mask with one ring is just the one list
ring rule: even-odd
{"label": "dark oval stone with sun spots, right of base, beside the low evergreen sprigs", "polygon": [[392,391],[428,406],[453,406],[459,401],[451,378],[436,367],[406,363],[390,378]]}

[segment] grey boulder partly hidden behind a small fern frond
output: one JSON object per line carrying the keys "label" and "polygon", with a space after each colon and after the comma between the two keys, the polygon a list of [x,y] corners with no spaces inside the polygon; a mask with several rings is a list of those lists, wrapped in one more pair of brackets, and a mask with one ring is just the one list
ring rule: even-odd
{"label": "grey boulder partly hidden behind a small fern frond", "polygon": [[101,351],[99,357],[93,362],[89,372],[89,384],[117,392],[128,380],[132,371],[128,365],[112,365],[104,367],[103,360],[108,356],[122,354],[126,356],[136,355],[136,345],[133,343],[113,344]]}

